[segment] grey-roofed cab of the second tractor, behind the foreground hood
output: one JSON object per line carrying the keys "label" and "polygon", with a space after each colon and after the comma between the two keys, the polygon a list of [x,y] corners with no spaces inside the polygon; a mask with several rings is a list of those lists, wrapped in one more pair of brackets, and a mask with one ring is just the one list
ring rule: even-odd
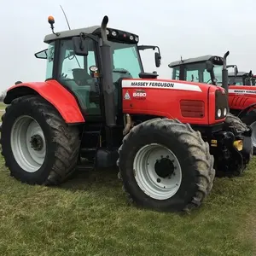
{"label": "grey-roofed cab of the second tractor, behind the foreground hood", "polygon": [[173,69],[172,79],[189,82],[221,85],[224,58],[204,55],[197,58],[174,61],[168,65]]}

